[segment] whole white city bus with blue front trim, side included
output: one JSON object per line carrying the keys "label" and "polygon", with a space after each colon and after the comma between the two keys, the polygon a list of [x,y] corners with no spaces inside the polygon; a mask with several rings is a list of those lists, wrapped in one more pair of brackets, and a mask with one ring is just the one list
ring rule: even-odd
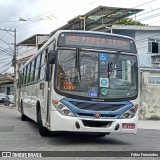
{"label": "whole white city bus with blue front trim, side included", "polygon": [[132,38],[92,31],[56,32],[23,66],[19,111],[41,136],[137,133],[139,70]]}

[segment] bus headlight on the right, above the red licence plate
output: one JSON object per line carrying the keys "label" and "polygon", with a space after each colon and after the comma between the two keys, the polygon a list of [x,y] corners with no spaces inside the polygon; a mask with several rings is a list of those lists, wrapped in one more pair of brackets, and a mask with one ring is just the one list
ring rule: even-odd
{"label": "bus headlight on the right, above the red licence plate", "polygon": [[128,109],[126,112],[124,112],[119,118],[120,119],[129,119],[129,118],[133,118],[137,112],[137,105]]}

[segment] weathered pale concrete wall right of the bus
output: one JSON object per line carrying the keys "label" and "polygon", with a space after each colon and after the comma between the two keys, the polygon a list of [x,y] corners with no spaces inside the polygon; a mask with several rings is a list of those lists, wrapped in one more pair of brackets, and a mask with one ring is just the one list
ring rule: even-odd
{"label": "weathered pale concrete wall right of the bus", "polygon": [[160,72],[141,72],[140,119],[160,120]]}

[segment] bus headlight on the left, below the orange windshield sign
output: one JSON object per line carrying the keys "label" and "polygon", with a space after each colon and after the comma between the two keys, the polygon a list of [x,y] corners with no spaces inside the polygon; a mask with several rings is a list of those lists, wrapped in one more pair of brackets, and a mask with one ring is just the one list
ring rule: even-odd
{"label": "bus headlight on the left, below the orange windshield sign", "polygon": [[74,117],[73,112],[69,108],[67,108],[64,104],[58,103],[57,105],[54,106],[56,107],[57,111],[62,115]]}

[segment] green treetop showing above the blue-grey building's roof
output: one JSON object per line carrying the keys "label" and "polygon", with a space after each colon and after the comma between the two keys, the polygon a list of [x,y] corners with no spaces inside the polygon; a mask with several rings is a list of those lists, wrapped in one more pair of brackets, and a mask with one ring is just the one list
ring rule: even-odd
{"label": "green treetop showing above the blue-grey building's roof", "polygon": [[143,24],[140,21],[135,21],[132,18],[121,18],[120,20],[117,20],[114,24],[147,26],[146,24]]}

